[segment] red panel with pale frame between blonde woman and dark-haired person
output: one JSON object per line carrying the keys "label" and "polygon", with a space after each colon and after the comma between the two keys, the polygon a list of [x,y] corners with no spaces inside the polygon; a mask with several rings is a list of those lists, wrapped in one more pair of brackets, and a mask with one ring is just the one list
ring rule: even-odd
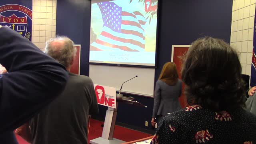
{"label": "red panel with pale frame between blonde woman and dark-haired person", "polygon": [[[190,45],[172,45],[172,56],[171,56],[171,62],[174,62],[176,64],[178,74],[179,74],[179,79],[181,79],[181,68],[182,68],[182,59],[180,58],[186,52],[188,51],[188,48]],[[187,106],[186,98],[183,94],[184,91],[184,83],[182,83],[182,94],[180,96],[180,105],[182,108]]]}

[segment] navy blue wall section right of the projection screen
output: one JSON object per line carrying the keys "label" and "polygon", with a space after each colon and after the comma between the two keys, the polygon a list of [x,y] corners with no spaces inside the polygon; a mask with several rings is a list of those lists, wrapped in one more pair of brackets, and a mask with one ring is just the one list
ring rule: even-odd
{"label": "navy blue wall section right of the projection screen", "polygon": [[232,0],[161,0],[157,80],[170,60],[171,45],[191,44],[202,36],[230,42]]}

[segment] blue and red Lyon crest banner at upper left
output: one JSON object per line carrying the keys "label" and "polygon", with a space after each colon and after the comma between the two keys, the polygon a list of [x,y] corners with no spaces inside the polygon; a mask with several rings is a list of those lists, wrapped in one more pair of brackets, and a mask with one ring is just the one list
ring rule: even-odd
{"label": "blue and red Lyon crest banner at upper left", "polygon": [[0,25],[17,31],[31,41],[32,10],[18,4],[0,6]]}

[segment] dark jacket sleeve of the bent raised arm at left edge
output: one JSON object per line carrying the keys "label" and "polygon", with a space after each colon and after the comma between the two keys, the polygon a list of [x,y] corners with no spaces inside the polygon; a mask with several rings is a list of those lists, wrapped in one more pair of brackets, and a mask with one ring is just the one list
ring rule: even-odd
{"label": "dark jacket sleeve of the bent raised arm at left edge", "polygon": [[0,143],[58,96],[68,80],[61,64],[14,30],[0,28]]}

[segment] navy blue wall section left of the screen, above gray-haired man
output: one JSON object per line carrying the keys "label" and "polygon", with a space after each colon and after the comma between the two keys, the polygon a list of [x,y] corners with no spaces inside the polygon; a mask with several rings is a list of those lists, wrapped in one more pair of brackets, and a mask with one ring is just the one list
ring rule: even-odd
{"label": "navy blue wall section left of the screen, above gray-haired man", "polygon": [[81,44],[80,74],[89,75],[90,0],[57,0],[56,35]]}

